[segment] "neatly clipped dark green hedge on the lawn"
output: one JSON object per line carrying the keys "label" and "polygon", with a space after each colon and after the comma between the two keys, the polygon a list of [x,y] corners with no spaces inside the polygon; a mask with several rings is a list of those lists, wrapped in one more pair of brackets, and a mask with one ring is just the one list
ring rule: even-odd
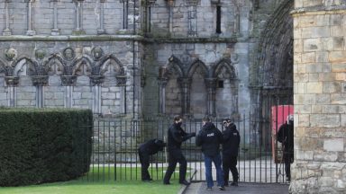
{"label": "neatly clipped dark green hedge on the lawn", "polygon": [[68,181],[88,172],[91,110],[0,109],[0,186]]}

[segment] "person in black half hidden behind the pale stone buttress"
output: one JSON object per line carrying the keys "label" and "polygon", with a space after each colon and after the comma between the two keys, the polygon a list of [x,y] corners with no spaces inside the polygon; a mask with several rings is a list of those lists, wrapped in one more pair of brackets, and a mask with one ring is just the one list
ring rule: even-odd
{"label": "person in black half hidden behind the pale stone buttress", "polygon": [[280,128],[278,128],[278,142],[282,143],[283,146],[283,159],[285,162],[285,172],[287,181],[291,181],[291,163],[293,163],[293,155],[294,155],[294,119],[293,115],[287,116],[287,122],[282,124]]}

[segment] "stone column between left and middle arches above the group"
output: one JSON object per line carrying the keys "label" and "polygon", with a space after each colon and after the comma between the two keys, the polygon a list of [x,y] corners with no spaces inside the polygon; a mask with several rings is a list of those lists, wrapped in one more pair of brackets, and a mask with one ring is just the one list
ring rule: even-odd
{"label": "stone column between left and middle arches above the group", "polygon": [[178,78],[178,84],[181,88],[181,110],[187,118],[190,116],[190,91],[192,79],[188,77]]}

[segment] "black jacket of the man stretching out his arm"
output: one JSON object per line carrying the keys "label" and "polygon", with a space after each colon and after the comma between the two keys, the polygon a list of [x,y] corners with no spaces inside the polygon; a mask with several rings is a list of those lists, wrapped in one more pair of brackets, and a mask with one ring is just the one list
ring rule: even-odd
{"label": "black jacket of the man stretching out his arm", "polygon": [[180,149],[181,144],[187,139],[196,136],[196,133],[188,134],[178,123],[173,123],[168,128],[167,147],[168,150]]}

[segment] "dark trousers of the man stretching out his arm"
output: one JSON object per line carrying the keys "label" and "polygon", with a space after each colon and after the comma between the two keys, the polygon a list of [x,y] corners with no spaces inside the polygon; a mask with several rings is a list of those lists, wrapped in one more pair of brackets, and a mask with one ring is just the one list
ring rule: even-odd
{"label": "dark trousers of the man stretching out his arm", "polygon": [[180,149],[168,150],[168,168],[163,179],[163,183],[168,183],[173,172],[179,163],[179,182],[185,181],[187,175],[187,159]]}

